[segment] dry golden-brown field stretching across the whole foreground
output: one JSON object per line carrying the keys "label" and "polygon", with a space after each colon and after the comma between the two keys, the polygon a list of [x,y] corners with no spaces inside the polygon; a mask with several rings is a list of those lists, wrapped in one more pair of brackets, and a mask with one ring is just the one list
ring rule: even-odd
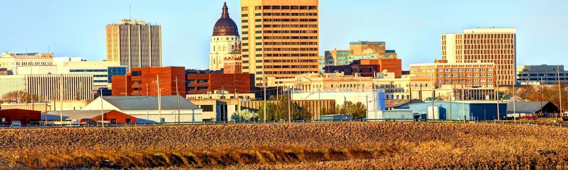
{"label": "dry golden-brown field stretching across the whole foreground", "polygon": [[568,166],[568,128],[460,123],[0,129],[0,169]]}

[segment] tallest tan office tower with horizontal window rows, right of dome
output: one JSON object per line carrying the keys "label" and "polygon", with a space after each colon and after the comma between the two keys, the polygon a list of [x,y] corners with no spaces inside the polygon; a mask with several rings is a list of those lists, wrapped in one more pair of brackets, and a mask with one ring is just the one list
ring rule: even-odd
{"label": "tallest tan office tower with horizontal window rows, right of dome", "polygon": [[319,71],[318,0],[241,0],[243,73],[293,78]]}

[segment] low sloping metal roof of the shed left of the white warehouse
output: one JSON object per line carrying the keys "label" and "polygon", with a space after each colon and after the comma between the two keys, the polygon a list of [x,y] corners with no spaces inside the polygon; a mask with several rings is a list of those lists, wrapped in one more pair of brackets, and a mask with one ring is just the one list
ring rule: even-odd
{"label": "low sloping metal roof of the shed left of the white warehouse", "polygon": [[[109,113],[113,110],[103,110],[103,113]],[[62,111],[48,111],[48,121],[59,121],[63,115],[63,120],[78,120],[78,119],[91,119],[101,115],[101,110],[64,110]],[[45,115],[41,115],[41,121],[45,121]]]}

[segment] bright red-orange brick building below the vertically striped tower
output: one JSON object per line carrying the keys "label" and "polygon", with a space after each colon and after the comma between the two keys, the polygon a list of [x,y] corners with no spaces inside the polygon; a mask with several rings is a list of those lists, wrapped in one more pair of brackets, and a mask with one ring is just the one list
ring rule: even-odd
{"label": "bright red-orange brick building below the vertically striped tower", "polygon": [[157,96],[158,77],[161,95],[176,95],[177,77],[179,95],[185,96],[185,67],[132,68],[126,76],[112,76],[112,96]]}

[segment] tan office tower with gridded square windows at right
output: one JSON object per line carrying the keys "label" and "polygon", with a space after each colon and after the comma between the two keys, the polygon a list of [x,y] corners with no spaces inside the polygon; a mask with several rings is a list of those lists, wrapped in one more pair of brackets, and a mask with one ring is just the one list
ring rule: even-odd
{"label": "tan office tower with gridded square windows at right", "polygon": [[515,84],[516,28],[472,28],[442,34],[442,60],[495,63],[495,85]]}

